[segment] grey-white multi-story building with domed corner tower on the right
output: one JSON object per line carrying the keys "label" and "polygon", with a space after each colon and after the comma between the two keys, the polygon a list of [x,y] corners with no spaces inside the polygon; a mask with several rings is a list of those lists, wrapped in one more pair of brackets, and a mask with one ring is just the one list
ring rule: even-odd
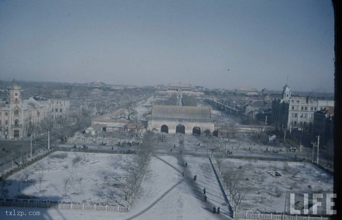
{"label": "grey-white multi-story building with domed corner tower on the right", "polygon": [[280,128],[308,128],[314,124],[314,113],[326,106],[334,106],[332,100],[312,100],[309,97],[291,97],[290,87],[283,87],[282,98],[272,102],[273,122]]}

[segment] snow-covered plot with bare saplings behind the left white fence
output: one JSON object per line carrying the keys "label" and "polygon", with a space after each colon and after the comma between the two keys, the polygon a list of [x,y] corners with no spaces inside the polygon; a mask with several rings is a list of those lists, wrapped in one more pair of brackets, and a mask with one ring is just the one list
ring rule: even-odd
{"label": "snow-covered plot with bare saplings behind the left white fence", "polygon": [[[6,179],[7,198],[126,206],[125,166],[132,155],[54,152]],[[21,196],[20,196],[21,195]]]}

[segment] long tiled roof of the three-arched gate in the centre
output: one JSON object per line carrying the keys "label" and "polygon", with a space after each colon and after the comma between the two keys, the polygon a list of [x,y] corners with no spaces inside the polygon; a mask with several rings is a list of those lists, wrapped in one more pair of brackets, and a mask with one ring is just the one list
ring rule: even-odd
{"label": "long tiled roof of the three-arched gate in the centre", "polygon": [[209,107],[161,106],[153,105],[148,118],[176,118],[195,120],[214,120]]}

